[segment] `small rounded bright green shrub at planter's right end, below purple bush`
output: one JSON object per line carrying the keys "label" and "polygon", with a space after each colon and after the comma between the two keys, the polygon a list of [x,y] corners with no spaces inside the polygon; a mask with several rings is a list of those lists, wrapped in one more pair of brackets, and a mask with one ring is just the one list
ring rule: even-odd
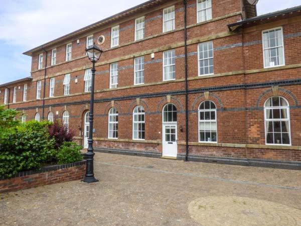
{"label": "small rounded bright green shrub at planter's right end, below purple bush", "polygon": [[74,142],[64,142],[56,152],[57,164],[73,163],[83,160],[81,146]]}

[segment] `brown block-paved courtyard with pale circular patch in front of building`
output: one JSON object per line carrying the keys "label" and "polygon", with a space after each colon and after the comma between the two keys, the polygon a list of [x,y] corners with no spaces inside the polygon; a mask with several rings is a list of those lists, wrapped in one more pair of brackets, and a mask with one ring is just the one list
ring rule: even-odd
{"label": "brown block-paved courtyard with pale circular patch in front of building", "polygon": [[0,194],[0,225],[301,225],[301,171],[96,153],[95,175]]}

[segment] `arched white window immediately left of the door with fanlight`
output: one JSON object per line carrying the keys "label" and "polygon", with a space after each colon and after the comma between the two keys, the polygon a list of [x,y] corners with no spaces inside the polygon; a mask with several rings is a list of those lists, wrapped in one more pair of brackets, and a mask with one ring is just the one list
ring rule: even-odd
{"label": "arched white window immediately left of the door with fanlight", "polygon": [[133,139],[144,140],[145,137],[145,112],[142,106],[133,110]]}

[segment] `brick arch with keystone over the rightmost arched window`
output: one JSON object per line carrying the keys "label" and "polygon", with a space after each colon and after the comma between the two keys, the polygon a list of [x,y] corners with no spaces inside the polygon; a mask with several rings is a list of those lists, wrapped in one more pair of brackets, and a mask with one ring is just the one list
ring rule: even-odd
{"label": "brick arch with keystone over the rightmost arched window", "polygon": [[267,89],[261,93],[257,99],[256,107],[263,107],[265,101],[272,96],[281,96],[288,101],[289,106],[298,105],[297,97],[289,90],[284,88],[278,88],[277,93],[273,92],[273,89]]}

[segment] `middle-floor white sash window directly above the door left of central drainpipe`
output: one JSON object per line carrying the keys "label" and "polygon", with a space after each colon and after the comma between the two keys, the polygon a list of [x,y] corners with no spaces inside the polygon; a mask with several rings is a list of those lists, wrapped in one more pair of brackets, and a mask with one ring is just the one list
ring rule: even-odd
{"label": "middle-floor white sash window directly above the door left of central drainpipe", "polygon": [[176,79],[176,56],[175,50],[163,52],[163,80]]}

